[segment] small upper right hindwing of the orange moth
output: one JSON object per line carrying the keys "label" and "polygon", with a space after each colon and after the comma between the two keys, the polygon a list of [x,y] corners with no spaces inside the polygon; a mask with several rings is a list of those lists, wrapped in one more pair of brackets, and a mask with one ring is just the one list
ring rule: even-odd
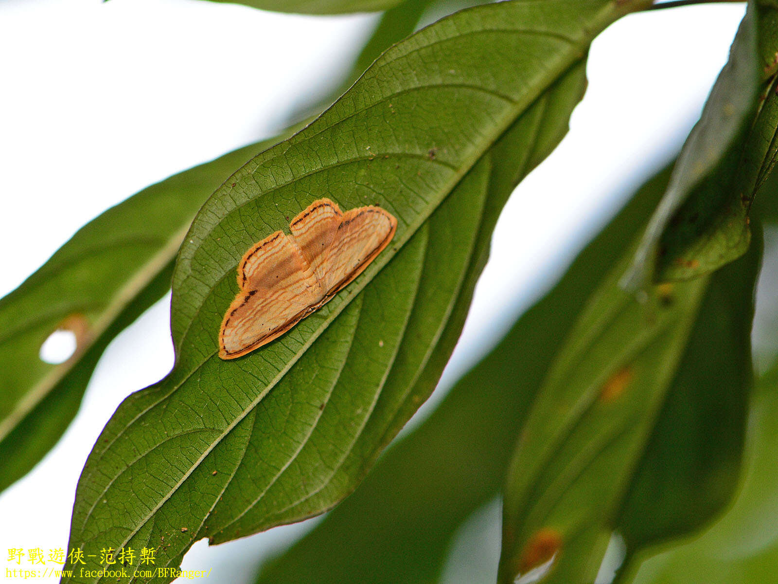
{"label": "small upper right hindwing of the orange moth", "polygon": [[319,199],[289,223],[294,241],[318,280],[326,276],[324,264],[342,219],[343,213],[335,202]]}

